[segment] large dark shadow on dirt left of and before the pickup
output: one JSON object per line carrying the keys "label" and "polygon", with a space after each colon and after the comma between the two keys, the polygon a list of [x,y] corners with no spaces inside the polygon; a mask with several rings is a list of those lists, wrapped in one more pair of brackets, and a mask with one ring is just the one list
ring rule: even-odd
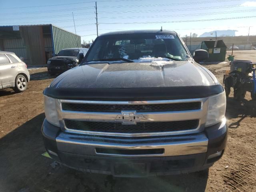
{"label": "large dark shadow on dirt left of and before the pickup", "polygon": [[4,192],[203,192],[208,172],[148,178],[113,178],[58,165],[45,152],[40,114],[0,139],[0,191]]}

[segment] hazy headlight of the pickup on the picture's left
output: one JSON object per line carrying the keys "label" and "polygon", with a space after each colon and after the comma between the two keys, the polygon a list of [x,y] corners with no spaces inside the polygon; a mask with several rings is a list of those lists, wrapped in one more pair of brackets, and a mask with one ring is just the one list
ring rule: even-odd
{"label": "hazy headlight of the pickup on the picture's left", "polygon": [[49,123],[58,127],[60,126],[54,98],[44,95],[44,113]]}

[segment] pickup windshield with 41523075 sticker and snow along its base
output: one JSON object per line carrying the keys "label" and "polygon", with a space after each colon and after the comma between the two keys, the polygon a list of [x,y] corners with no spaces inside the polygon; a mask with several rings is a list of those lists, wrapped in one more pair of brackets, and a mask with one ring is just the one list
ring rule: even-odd
{"label": "pickup windshield with 41523075 sticker and snow along its base", "polygon": [[188,56],[175,34],[120,34],[99,37],[91,47],[85,62],[115,58],[134,62],[152,62],[156,58],[187,60]]}

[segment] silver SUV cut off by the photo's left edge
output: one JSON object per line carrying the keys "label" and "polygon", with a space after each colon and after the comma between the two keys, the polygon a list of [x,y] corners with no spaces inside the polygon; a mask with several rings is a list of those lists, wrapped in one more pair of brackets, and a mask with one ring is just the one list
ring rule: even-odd
{"label": "silver SUV cut off by the photo's left edge", "polygon": [[0,89],[11,87],[23,92],[29,80],[27,65],[15,53],[0,51]]}

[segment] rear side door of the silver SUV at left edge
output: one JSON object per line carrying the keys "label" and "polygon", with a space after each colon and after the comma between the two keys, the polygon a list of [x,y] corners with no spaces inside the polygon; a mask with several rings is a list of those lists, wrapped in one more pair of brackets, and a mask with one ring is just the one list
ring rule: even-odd
{"label": "rear side door of the silver SUV at left edge", "polygon": [[0,78],[2,88],[14,87],[18,75],[17,63],[11,63],[5,54],[0,54]]}

